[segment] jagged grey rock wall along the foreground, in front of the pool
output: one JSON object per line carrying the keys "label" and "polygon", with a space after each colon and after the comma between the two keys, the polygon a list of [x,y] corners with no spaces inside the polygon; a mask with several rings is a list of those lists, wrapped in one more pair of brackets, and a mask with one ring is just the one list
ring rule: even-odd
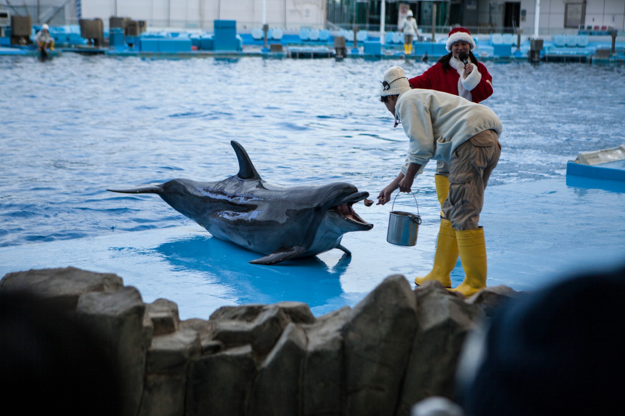
{"label": "jagged grey rock wall along the foreground, in front of the pool", "polygon": [[514,296],[497,286],[464,299],[437,282],[413,291],[394,275],[353,309],[318,318],[279,302],[180,321],[174,302],[144,304],[114,274],[9,273],[2,291],[50,299],[108,340],[124,416],[408,415],[425,397],[452,397],[467,331]]}

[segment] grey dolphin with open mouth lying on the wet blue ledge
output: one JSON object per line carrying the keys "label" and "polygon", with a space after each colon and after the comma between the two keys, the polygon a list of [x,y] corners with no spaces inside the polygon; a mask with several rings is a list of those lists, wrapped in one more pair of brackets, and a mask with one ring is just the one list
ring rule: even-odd
{"label": "grey dolphin with open mouth lying on the wet blue ledge", "polygon": [[368,192],[345,182],[297,186],[266,182],[245,149],[234,140],[230,144],[239,159],[239,173],[222,181],[174,179],[108,191],[156,193],[216,238],[266,254],[249,262],[253,264],[276,264],[334,248],[351,254],[341,245],[342,236],[373,228],[352,208]]}

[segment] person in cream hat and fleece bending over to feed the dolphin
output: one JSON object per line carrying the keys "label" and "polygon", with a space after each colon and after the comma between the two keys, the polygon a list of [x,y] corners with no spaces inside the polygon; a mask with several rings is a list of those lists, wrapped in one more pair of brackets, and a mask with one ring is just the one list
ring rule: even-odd
{"label": "person in cream hat and fleece bending over to feed the dolphin", "polygon": [[434,267],[414,283],[437,280],[451,288],[450,273],[460,254],[466,277],[454,290],[471,296],[486,287],[484,229],[477,221],[501,153],[501,122],[486,105],[446,92],[411,89],[401,67],[386,71],[380,95],[410,143],[401,172],[377,196],[377,205],[387,203],[397,188],[411,191],[415,175],[430,159],[449,163],[449,196],[442,206]]}

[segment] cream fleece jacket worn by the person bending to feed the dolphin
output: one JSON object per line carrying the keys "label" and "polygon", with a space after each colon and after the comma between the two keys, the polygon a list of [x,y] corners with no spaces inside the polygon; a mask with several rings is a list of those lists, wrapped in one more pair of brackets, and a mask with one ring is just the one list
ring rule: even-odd
{"label": "cream fleece jacket worn by the person bending to feed the dolphin", "polygon": [[477,133],[495,130],[501,135],[501,121],[486,107],[446,92],[405,89],[399,93],[395,117],[401,121],[410,139],[406,162],[401,172],[406,175],[409,163],[423,165],[429,160],[451,161],[451,155],[462,143]]}

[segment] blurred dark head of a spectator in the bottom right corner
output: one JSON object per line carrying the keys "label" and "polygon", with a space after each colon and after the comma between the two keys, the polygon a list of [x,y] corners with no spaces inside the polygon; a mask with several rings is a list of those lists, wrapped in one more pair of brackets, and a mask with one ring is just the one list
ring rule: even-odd
{"label": "blurred dark head of a spectator in the bottom right corner", "polygon": [[461,392],[467,414],[611,414],[625,387],[625,268],[508,302]]}

